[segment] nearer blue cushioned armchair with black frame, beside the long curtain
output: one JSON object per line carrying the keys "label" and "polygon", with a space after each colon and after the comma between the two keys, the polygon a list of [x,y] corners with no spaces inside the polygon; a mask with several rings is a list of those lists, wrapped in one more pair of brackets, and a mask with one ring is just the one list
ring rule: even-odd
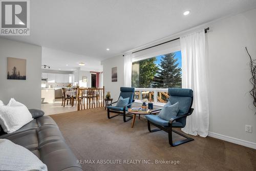
{"label": "nearer blue cushioned armchair with black frame, beside the long curtain", "polygon": [[[193,90],[191,89],[168,89],[169,99],[170,103],[175,104],[176,102],[179,102],[179,112],[176,117],[170,118],[170,120],[164,120],[161,119],[158,115],[151,115],[151,114],[157,114],[161,111],[161,109],[152,111],[150,115],[146,115],[147,119],[147,128],[150,132],[156,132],[163,130],[168,133],[169,137],[169,144],[172,146],[177,146],[189,141],[193,141],[193,138],[187,137],[184,134],[181,134],[175,130],[173,130],[173,127],[185,127],[186,125],[186,117],[191,115],[194,111],[193,108],[191,108],[193,104]],[[159,129],[151,130],[151,124],[158,127]],[[173,135],[172,132],[175,132],[186,139],[181,141],[173,142]]]}

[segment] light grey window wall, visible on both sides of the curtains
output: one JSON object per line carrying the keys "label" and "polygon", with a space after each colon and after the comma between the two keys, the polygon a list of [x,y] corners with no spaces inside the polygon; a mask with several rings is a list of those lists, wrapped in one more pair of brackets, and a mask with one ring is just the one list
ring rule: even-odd
{"label": "light grey window wall, visible on both sides of the curtains", "polygon": [[[256,109],[249,95],[251,77],[247,46],[256,59],[256,9],[216,20],[201,28],[210,27],[208,39],[209,62],[209,135],[253,144],[256,143]],[[180,34],[181,35],[181,34]],[[180,36],[175,35],[173,38]],[[172,39],[172,38],[170,38]],[[143,49],[143,48],[141,48]],[[103,84],[106,91],[118,97],[123,86],[123,57],[102,61]],[[111,68],[118,67],[118,82],[111,82]],[[252,133],[245,132],[245,125],[252,125]],[[216,136],[217,135],[217,136]]]}

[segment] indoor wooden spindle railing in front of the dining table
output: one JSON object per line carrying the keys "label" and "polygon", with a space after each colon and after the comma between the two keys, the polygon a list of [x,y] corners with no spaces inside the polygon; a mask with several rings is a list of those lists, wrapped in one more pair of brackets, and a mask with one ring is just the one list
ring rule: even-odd
{"label": "indoor wooden spindle railing in front of the dining table", "polygon": [[77,87],[77,111],[104,106],[103,88],[79,88]]}

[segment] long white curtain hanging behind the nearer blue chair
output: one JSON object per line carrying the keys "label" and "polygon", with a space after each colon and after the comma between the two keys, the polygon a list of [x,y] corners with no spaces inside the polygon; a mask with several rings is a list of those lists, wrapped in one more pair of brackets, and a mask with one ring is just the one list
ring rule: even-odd
{"label": "long white curtain hanging behind the nearer blue chair", "polygon": [[209,127],[207,60],[204,30],[180,37],[182,88],[194,91],[194,112],[187,117],[183,132],[206,137]]}

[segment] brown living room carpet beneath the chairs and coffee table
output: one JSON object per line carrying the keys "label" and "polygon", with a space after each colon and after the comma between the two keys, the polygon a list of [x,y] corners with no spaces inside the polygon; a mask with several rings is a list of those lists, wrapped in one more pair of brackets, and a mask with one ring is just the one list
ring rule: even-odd
{"label": "brown living room carpet beneath the chairs and coffee table", "polygon": [[[211,137],[194,137],[194,141],[171,147],[167,133],[148,132],[145,119],[137,119],[131,129],[131,120],[108,119],[103,108],[51,117],[78,159],[122,163],[82,164],[84,170],[256,170],[255,149]],[[142,164],[142,160],[153,164]],[[156,164],[155,160],[179,164]]]}

